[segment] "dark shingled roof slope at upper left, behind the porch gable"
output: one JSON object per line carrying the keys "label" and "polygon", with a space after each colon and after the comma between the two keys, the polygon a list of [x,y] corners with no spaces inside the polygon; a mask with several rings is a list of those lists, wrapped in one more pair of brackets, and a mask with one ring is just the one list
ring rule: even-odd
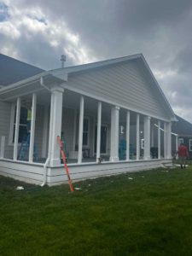
{"label": "dark shingled roof slope at upper left, behind the porch gable", "polygon": [[41,68],[0,54],[0,88],[42,72]]}

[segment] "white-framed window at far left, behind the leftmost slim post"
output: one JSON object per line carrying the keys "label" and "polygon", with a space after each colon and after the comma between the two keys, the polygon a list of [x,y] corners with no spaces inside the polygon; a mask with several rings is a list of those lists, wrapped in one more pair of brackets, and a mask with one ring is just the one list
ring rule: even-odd
{"label": "white-framed window at far left, behind the leftmost slim post", "polygon": [[[16,107],[13,105],[11,110],[9,144],[15,141],[15,123],[16,123]],[[27,133],[27,109],[20,107],[20,130],[19,130],[19,143],[22,143],[23,137]]]}

